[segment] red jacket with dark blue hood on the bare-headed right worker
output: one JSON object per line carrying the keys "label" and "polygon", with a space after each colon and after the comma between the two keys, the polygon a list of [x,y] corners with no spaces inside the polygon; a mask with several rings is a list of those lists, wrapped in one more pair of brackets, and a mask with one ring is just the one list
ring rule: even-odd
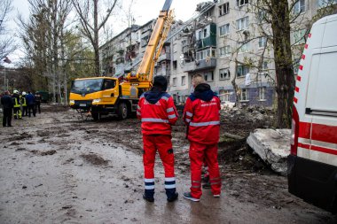
{"label": "red jacket with dark blue hood on the bare-headed right worker", "polygon": [[207,83],[199,84],[184,106],[187,138],[195,143],[215,144],[220,137],[220,99]]}

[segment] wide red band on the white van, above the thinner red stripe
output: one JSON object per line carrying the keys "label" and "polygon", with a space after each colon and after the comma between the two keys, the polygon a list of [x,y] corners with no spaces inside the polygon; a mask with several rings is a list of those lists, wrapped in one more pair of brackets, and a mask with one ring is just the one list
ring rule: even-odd
{"label": "wide red band on the white van, above the thinner red stripe", "polygon": [[311,138],[325,143],[337,143],[337,127],[312,124]]}

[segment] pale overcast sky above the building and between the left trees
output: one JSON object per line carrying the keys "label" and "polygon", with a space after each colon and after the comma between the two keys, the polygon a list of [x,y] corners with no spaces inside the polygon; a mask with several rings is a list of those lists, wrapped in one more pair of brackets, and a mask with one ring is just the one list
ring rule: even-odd
{"label": "pale overcast sky above the building and between the left trees", "polygon": [[[127,8],[129,6],[129,3],[131,2],[131,0],[119,0],[119,1],[123,5],[123,8]],[[187,19],[190,19],[194,15],[197,4],[201,2],[205,1],[173,0],[171,9],[174,9],[176,19],[182,19],[185,21]],[[14,10],[12,11],[11,14],[12,21],[8,24],[7,27],[10,28],[12,35],[14,35],[16,30],[16,24],[14,22],[14,19],[17,17],[18,13],[21,13],[25,18],[28,18],[29,4],[27,0],[13,0],[12,3],[14,7]],[[143,25],[147,21],[158,17],[159,12],[161,11],[161,8],[165,3],[165,0],[133,0],[133,3],[134,4],[131,7],[131,12],[136,20],[135,24]],[[124,12],[121,11],[119,13],[115,12],[115,15],[109,21],[109,23],[112,24],[111,26],[113,28],[114,35],[119,34],[122,30],[128,27],[128,23],[125,21],[125,19],[121,20],[123,16],[125,18]],[[18,40],[18,42],[20,42],[20,40]],[[11,58],[12,62],[15,63],[19,60],[21,55],[22,55],[21,50],[17,50],[15,53],[9,55],[8,57]]]}

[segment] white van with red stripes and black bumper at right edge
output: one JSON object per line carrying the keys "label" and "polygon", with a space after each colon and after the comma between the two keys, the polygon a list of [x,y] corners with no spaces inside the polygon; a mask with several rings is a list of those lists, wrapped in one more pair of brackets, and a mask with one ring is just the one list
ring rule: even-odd
{"label": "white van with red stripes and black bumper at right edge", "polygon": [[289,192],[337,212],[337,14],[311,28],[294,94]]}

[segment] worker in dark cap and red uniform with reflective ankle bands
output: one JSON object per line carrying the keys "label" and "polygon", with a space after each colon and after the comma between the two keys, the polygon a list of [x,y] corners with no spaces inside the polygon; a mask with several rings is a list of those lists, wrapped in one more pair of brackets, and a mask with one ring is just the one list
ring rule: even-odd
{"label": "worker in dark cap and red uniform with reflective ankle bands", "polygon": [[155,76],[153,88],[139,99],[137,118],[142,121],[144,144],[144,182],[146,201],[154,201],[154,160],[159,152],[165,170],[165,191],[169,202],[177,199],[175,158],[171,143],[171,125],[177,120],[176,106],[173,98],[166,92],[168,81],[162,75]]}

